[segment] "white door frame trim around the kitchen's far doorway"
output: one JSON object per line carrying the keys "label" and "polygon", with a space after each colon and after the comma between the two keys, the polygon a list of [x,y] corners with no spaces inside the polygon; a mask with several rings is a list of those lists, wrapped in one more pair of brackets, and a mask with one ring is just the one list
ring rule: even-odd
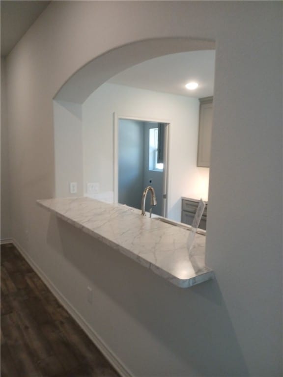
{"label": "white door frame trim around the kitchen's far doorway", "polygon": [[[168,119],[156,119],[148,117],[139,116],[129,116],[120,115],[113,112],[113,127],[114,127],[114,140],[113,140],[113,192],[114,192],[114,203],[118,203],[118,184],[119,184],[119,120],[129,119],[137,120],[140,122],[155,122],[165,124],[165,134],[164,134],[164,174],[163,174],[163,198],[162,198],[162,216],[167,217],[168,215],[168,177],[169,177],[169,141],[170,141],[170,124],[172,123]],[[142,198],[141,198],[142,200]]]}

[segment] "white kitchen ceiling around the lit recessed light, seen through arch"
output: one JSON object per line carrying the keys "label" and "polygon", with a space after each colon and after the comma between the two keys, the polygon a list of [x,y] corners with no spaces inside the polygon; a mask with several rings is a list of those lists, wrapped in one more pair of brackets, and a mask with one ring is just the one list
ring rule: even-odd
{"label": "white kitchen ceiling around the lit recessed light, seen through arch", "polygon": [[[108,82],[141,89],[203,98],[213,95],[215,51],[192,51],[160,56],[117,74]],[[198,82],[196,90],[185,88]]]}

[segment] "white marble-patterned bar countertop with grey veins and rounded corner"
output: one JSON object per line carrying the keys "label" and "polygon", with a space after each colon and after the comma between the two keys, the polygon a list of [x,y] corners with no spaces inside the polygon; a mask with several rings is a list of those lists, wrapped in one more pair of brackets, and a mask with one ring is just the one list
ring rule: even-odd
{"label": "white marble-patterned bar countertop with grey veins and rounded corner", "polygon": [[131,207],[88,197],[44,199],[37,203],[178,287],[191,287],[214,276],[212,269],[205,266],[202,234],[196,234],[189,255],[190,230],[142,216]]}

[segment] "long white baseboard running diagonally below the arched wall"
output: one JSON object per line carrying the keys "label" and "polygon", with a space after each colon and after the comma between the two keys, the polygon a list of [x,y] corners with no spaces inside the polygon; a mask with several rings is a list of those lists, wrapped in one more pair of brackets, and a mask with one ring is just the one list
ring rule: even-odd
{"label": "long white baseboard running diagonally below the arched wall", "polygon": [[[118,359],[118,357],[110,350],[101,337],[90,327],[90,325],[84,320],[84,318],[78,313],[78,311],[72,306],[72,304],[57,290],[52,281],[48,276],[38,267],[38,265],[29,257],[27,252],[19,245],[16,240],[10,240],[22,256],[27,260],[30,266],[35,270],[35,272],[44,281],[53,295],[61,303],[61,305],[67,310],[67,312],[72,316],[72,318],[78,323],[78,325],[85,331],[86,335],[92,340],[96,347],[103,353],[107,358],[113,368],[119,373],[121,377],[133,377],[130,371],[123,365],[123,363]],[[6,242],[7,243],[7,242]]]}

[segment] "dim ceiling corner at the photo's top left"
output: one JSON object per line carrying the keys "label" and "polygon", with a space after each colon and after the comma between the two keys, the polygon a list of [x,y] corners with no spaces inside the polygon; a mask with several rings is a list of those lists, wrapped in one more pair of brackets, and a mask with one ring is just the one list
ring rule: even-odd
{"label": "dim ceiling corner at the photo's top left", "polygon": [[1,56],[7,56],[51,1],[1,0]]}

